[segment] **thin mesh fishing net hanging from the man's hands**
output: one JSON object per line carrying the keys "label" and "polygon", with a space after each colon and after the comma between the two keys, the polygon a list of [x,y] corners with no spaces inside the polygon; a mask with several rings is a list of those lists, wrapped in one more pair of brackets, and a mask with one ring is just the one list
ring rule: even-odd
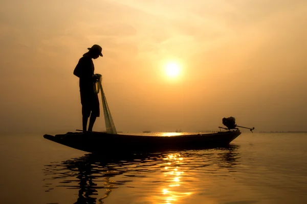
{"label": "thin mesh fishing net hanging from the man's hands", "polygon": [[110,109],[107,105],[106,102],[106,98],[105,98],[105,94],[103,92],[103,88],[102,88],[102,77],[100,74],[96,74],[98,76],[98,82],[95,83],[94,89],[96,93],[101,93],[101,103],[102,103],[102,107],[103,107],[103,115],[104,115],[104,121],[105,121],[105,129],[106,129],[106,133],[109,134],[117,134],[116,132],[116,128],[111,116],[111,112]]}

